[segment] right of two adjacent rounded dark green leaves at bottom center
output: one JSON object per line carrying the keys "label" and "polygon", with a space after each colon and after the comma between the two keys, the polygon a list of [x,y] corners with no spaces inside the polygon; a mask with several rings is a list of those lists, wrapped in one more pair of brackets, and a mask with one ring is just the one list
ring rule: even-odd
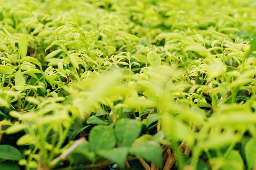
{"label": "right of two adjacent rounded dark green leaves at bottom center", "polygon": [[115,134],[119,146],[131,146],[140,132],[141,122],[138,120],[123,118],[116,123]]}

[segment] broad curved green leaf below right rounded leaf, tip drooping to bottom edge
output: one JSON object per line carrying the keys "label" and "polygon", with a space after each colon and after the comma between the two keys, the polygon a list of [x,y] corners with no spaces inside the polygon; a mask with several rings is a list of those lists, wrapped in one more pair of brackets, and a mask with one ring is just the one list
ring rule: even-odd
{"label": "broad curved green leaf below right rounded leaf, tip drooping to bottom edge", "polygon": [[159,168],[162,168],[162,149],[154,141],[132,146],[129,152],[137,157],[142,157],[146,161],[153,161]]}

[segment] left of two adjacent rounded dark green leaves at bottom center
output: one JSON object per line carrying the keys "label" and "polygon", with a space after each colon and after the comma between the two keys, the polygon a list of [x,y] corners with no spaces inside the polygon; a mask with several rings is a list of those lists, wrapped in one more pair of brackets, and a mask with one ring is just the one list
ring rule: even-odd
{"label": "left of two adjacent rounded dark green leaves at bottom center", "polygon": [[110,126],[98,125],[92,128],[89,136],[90,150],[110,150],[116,144],[115,131]]}

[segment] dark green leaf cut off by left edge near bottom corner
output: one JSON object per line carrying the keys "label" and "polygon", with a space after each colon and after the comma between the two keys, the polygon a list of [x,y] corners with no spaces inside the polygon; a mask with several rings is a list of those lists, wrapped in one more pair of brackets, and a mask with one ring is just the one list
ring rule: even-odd
{"label": "dark green leaf cut off by left edge near bottom corner", "polygon": [[0,159],[18,161],[23,155],[11,145],[0,145]]}

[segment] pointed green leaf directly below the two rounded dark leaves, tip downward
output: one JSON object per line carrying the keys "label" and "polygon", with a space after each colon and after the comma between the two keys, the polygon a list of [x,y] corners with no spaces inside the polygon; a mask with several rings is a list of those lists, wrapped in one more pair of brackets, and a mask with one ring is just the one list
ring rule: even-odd
{"label": "pointed green leaf directly below the two rounded dark leaves, tip downward", "polygon": [[110,159],[111,161],[117,163],[120,168],[125,167],[125,161],[128,156],[128,149],[127,148],[117,148],[113,150],[98,150],[97,155],[103,157],[105,159]]}

